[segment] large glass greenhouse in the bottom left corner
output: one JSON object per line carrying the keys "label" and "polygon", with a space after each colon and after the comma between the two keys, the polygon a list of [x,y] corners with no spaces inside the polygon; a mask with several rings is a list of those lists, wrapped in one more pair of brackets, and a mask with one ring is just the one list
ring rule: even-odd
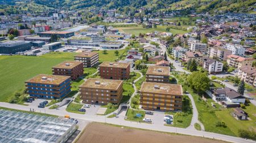
{"label": "large glass greenhouse in the bottom left corner", "polygon": [[76,130],[73,119],[0,110],[0,142],[65,142]]}

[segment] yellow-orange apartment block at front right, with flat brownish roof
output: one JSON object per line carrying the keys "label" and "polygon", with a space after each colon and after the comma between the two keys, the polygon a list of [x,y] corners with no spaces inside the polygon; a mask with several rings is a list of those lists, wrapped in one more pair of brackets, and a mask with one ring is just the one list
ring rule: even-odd
{"label": "yellow-orange apartment block at front right, with flat brownish roof", "polygon": [[182,88],[177,84],[143,82],[140,104],[145,110],[181,111]]}

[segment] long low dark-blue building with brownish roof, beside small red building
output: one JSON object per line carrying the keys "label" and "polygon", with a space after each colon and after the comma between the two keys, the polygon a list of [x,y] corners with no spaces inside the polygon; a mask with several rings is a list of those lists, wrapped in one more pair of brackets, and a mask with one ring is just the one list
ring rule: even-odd
{"label": "long low dark-blue building with brownish roof, beside small red building", "polygon": [[38,33],[40,37],[51,37],[56,35],[58,38],[69,38],[75,35],[74,32],[64,32],[64,31],[47,31]]}

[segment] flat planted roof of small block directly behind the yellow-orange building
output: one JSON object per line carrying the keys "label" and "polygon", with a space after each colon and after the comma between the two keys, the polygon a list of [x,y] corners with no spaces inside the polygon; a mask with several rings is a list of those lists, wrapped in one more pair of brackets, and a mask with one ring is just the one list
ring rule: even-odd
{"label": "flat planted roof of small block directly behind the yellow-orange building", "polygon": [[164,66],[149,66],[147,69],[146,75],[162,75],[169,76],[170,75],[170,67]]}

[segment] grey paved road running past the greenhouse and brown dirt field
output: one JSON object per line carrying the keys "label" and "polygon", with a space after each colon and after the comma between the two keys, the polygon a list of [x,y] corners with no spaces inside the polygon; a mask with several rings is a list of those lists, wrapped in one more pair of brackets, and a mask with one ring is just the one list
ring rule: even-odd
{"label": "grey paved road running past the greenhouse and brown dirt field", "polygon": [[[0,106],[11,108],[11,109],[30,111],[29,106],[22,106],[22,105],[10,104],[10,103],[5,103],[5,102],[0,102]],[[100,116],[100,115],[75,114],[75,113],[65,111],[64,107],[60,108],[59,110],[38,109],[38,108],[36,108],[35,110],[36,110],[36,112],[45,112],[47,114],[58,115],[58,116],[64,116],[64,115],[68,114],[69,116],[71,116],[71,118],[85,120],[85,121],[87,121],[86,123],[102,122],[102,123],[125,125],[128,127],[150,129],[150,130],[162,131],[162,132],[174,132],[174,133],[181,133],[184,135],[215,138],[218,140],[224,140],[224,141],[236,142],[236,143],[247,143],[247,142],[255,143],[255,141],[252,141],[252,140],[245,140],[245,139],[239,138],[239,137],[220,135],[220,134],[211,133],[211,132],[196,131],[195,129],[167,127],[167,126],[164,126],[163,124],[147,124],[147,123],[129,122],[129,121],[124,120],[123,118],[105,118],[105,116]]]}

